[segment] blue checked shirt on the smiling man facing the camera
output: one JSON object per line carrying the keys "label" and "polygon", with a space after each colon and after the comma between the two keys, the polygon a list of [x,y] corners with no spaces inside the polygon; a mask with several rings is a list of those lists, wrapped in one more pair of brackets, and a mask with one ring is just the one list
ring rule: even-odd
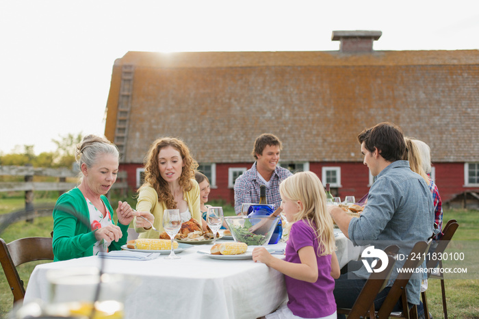
{"label": "blue checked shirt on the smiling man facing the camera", "polygon": [[[286,168],[276,166],[273,175],[270,179],[270,187],[266,187],[266,201],[268,204],[273,204],[274,209],[281,205],[281,196],[279,194],[279,183],[287,177],[293,175]],[[256,162],[249,170],[246,170],[235,181],[235,212],[241,212],[241,205],[243,203],[259,203],[259,186],[263,182],[258,177],[258,170],[256,169]]]}

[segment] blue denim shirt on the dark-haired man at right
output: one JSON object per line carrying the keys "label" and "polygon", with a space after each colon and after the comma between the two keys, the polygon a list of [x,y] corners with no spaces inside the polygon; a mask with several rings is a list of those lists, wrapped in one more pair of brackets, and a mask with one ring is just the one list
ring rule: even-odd
{"label": "blue denim shirt on the dark-haired man at right", "polygon": [[[408,161],[392,162],[382,170],[370,188],[367,205],[359,218],[352,218],[348,235],[354,245],[371,244],[385,248],[400,246],[400,254],[408,255],[413,244],[427,241],[434,231],[434,205],[429,186],[409,168]],[[388,287],[398,277],[397,268],[406,258],[396,262]],[[367,279],[365,266],[354,272]],[[413,274],[406,285],[409,303],[419,305],[422,275]]]}

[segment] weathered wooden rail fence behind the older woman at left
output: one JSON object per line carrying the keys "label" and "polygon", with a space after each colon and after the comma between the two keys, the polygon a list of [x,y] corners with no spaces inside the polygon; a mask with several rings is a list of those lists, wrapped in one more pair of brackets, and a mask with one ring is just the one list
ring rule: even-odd
{"label": "weathered wooden rail fence behind the older woman at left", "polygon": [[[67,177],[77,177],[79,172],[68,170],[66,168],[34,168],[33,166],[0,166],[0,175],[3,176],[23,176],[23,181],[4,181],[0,182],[0,192],[25,192],[25,210],[12,212],[0,216],[1,229],[18,220],[31,220],[34,216],[51,215],[51,207],[36,207],[34,205],[34,192],[38,191],[58,191],[59,196],[67,190],[75,188],[77,183],[67,182]],[[55,177],[58,181],[34,181],[34,176]],[[127,172],[118,172],[117,180],[112,186],[113,190],[120,190],[122,196],[127,196],[128,183]],[[107,194],[109,198],[109,193]]]}

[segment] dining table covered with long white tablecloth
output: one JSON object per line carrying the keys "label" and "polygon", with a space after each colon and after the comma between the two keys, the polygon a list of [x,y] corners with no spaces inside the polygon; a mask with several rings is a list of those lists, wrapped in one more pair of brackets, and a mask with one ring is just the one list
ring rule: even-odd
{"label": "dining table covered with long white tablecloth", "polygon": [[[340,266],[359,257],[350,240],[335,231]],[[227,240],[217,240],[223,242]],[[184,247],[185,245],[183,245]],[[153,254],[144,259],[90,256],[36,266],[31,273],[24,305],[49,303],[48,276],[65,268],[101,268],[103,273],[129,278],[125,287],[125,318],[259,318],[270,314],[287,300],[284,275],[251,257],[218,259],[209,255],[212,243],[187,245],[180,259]],[[286,243],[265,247],[283,259]],[[248,252],[253,247],[248,247]],[[247,254],[248,254],[247,252]],[[112,252],[114,253],[114,252]],[[114,254],[112,254],[114,255]],[[146,255],[145,255],[146,256]]]}

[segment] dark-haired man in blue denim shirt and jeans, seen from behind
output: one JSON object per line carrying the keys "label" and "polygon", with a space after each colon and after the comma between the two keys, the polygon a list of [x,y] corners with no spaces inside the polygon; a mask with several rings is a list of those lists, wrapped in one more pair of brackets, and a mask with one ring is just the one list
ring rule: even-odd
{"label": "dark-haired man in blue denim shirt and jeans, seen from behind", "polygon": [[[376,177],[367,205],[359,218],[352,218],[339,207],[330,207],[329,212],[354,245],[372,244],[375,248],[385,248],[388,244],[397,244],[400,253],[407,255],[415,242],[426,241],[433,233],[434,207],[429,187],[420,175],[413,173],[409,162],[401,160],[406,144],[396,125],[380,123],[365,129],[358,140],[363,163]],[[404,260],[396,264],[401,267]],[[376,309],[383,304],[398,276],[396,267],[393,269],[387,288],[376,296]],[[364,265],[341,275],[334,291],[337,307],[352,307],[369,275]],[[419,305],[420,285],[421,275],[414,274],[406,285],[410,305]],[[394,311],[402,311],[399,303]]]}

